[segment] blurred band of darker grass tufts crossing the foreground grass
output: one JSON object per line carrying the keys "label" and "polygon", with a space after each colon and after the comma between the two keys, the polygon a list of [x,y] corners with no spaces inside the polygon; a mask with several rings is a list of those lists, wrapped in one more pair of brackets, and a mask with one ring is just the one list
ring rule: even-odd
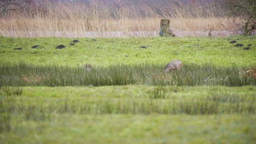
{"label": "blurred band of darker grass tufts crossing the foreground grass", "polygon": [[[1,90],[3,91],[3,90]],[[148,97],[131,98],[14,98],[5,96],[0,100],[1,115],[23,115],[27,120],[41,121],[53,113],[78,114],[188,114],[212,115],[223,113],[255,113],[255,95],[205,95],[201,98],[172,99],[168,94],[164,100]],[[4,95],[3,93],[1,94]],[[131,95],[132,96],[132,95]],[[49,100],[50,99],[50,100]],[[6,117],[9,119],[9,117]],[[3,119],[3,121],[5,121]],[[2,126],[3,127],[3,126]]]}

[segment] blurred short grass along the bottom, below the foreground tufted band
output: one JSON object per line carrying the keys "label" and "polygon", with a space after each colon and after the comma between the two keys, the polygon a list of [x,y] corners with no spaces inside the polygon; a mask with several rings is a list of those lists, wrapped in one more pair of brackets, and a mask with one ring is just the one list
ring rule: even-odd
{"label": "blurred short grass along the bottom, below the foreground tufted band", "polygon": [[69,115],[11,121],[1,143],[254,143],[255,115]]}

